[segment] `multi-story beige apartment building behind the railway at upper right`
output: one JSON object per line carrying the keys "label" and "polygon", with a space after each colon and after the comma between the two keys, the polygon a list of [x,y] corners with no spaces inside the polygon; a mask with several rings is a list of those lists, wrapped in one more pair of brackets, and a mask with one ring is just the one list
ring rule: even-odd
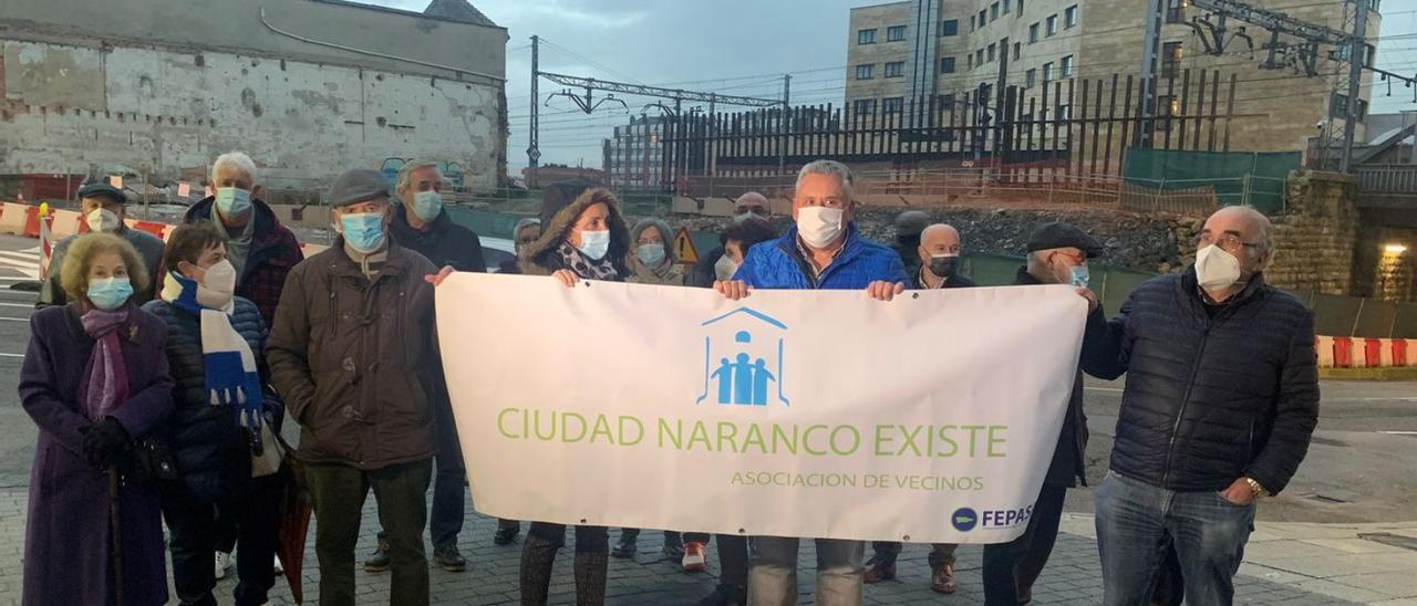
{"label": "multi-story beige apartment building behind the railway at upper right", "polygon": [[[979,85],[995,85],[1005,59],[1006,85],[1020,86],[1024,98],[1041,96],[1044,85],[1068,79],[1093,81],[1094,91],[1095,82],[1102,81],[1110,89],[1114,74],[1121,82],[1127,75],[1141,74],[1146,1],[907,0],[853,8],[846,106],[857,113],[891,113],[908,108],[911,99],[931,98],[954,106]],[[1374,8],[1367,38],[1376,40],[1382,23],[1379,0],[1363,1]],[[1223,52],[1207,54],[1203,28],[1190,24],[1192,17],[1206,17],[1204,11],[1187,6],[1187,0],[1165,3],[1156,62],[1162,79],[1158,115],[1200,112],[1196,106],[1182,106],[1180,78],[1190,69],[1195,105],[1200,71],[1219,69],[1223,79],[1236,75],[1234,106],[1229,112],[1233,119],[1227,125],[1231,150],[1304,150],[1311,137],[1329,135],[1342,123],[1346,96],[1335,91],[1342,91],[1340,84],[1346,82],[1346,71],[1339,72],[1346,64],[1331,59],[1331,48],[1319,48],[1314,64],[1318,75],[1304,74],[1294,52],[1281,55],[1287,67],[1265,69],[1260,65],[1268,58],[1264,50],[1268,33],[1255,25],[1240,30],[1246,24],[1230,18]],[[1352,10],[1352,3],[1267,0],[1264,7],[1343,30],[1345,11]],[[1173,74],[1175,89],[1168,89],[1166,81]],[[1366,108],[1367,82],[1362,91],[1360,106]],[[1219,101],[1219,110],[1224,110],[1229,99]],[[1058,118],[1071,112],[1067,103],[1049,105]],[[1362,125],[1357,140],[1363,140]]]}

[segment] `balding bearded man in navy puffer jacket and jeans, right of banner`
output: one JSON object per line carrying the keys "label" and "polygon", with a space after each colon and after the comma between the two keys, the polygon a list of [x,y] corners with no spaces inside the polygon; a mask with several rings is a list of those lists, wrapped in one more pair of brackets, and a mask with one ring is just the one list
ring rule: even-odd
{"label": "balding bearded man in navy puffer jacket and jeans, right of banner", "polygon": [[1111,473],[1097,488],[1107,605],[1144,603],[1166,541],[1186,600],[1229,605],[1255,501],[1289,483],[1318,423],[1314,314],[1265,285],[1274,227],[1210,215],[1183,273],[1088,317],[1083,368],[1127,374]]}

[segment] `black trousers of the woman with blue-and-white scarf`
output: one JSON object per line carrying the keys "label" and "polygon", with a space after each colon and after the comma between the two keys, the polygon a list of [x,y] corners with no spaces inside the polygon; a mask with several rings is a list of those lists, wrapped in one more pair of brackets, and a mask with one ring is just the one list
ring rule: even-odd
{"label": "black trousers of the woman with blue-and-white scarf", "polygon": [[162,491],[163,518],[171,531],[173,586],[180,605],[217,605],[211,593],[217,586],[211,562],[215,551],[230,549],[224,545],[230,530],[241,542],[237,605],[266,602],[275,585],[273,561],[286,477],[283,469],[273,476],[254,477],[224,503],[194,498],[183,488]]}

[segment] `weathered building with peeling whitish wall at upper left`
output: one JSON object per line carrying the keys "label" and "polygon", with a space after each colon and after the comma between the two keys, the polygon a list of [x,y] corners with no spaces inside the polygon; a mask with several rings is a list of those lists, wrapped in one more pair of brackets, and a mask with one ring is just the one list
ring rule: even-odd
{"label": "weathered building with peeling whitish wall at upper left", "polygon": [[[201,174],[244,150],[269,188],[432,157],[506,174],[507,31],[466,0],[6,0],[0,176]],[[118,168],[115,168],[118,167]]]}

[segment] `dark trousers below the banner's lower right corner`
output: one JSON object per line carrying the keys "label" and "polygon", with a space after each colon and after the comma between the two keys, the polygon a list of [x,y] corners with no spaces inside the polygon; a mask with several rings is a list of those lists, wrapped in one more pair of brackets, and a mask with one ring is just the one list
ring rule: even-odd
{"label": "dark trousers below the banner's lower right corner", "polygon": [[1043,484],[1029,528],[1019,538],[983,547],[983,602],[988,606],[1017,606],[1033,596],[1033,583],[1053,555],[1063,520],[1067,488]]}

